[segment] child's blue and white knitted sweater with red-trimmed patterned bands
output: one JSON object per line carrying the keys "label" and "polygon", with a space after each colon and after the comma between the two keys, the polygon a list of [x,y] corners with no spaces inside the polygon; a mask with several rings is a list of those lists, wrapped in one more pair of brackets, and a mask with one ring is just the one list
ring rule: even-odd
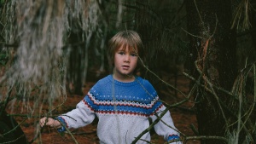
{"label": "child's blue and white knitted sweater with red-trimmed patterned bands", "polygon": [[[149,126],[148,118],[154,121],[166,107],[159,100],[154,87],[140,77],[131,83],[114,80],[112,75],[99,80],[71,112],[58,117],[67,128],[79,128],[98,118],[97,135],[101,144],[131,144]],[[154,125],[158,135],[166,141],[178,139],[170,112],[166,112]],[[65,130],[61,127],[59,131]],[[138,144],[150,141],[144,134]],[[180,141],[173,143],[181,143]]]}

